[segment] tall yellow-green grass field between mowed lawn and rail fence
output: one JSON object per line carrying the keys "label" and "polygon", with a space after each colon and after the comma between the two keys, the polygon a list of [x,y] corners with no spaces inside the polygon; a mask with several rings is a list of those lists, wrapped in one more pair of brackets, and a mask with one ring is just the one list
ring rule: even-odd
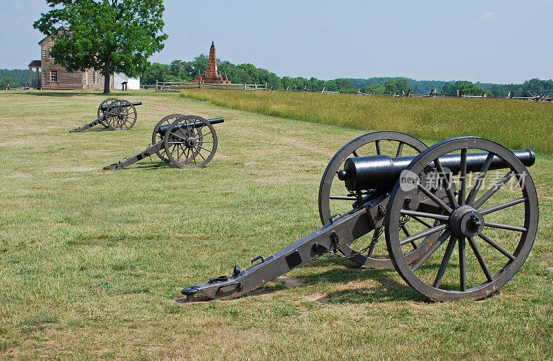
{"label": "tall yellow-green grass field between mowed lawn and rail fence", "polygon": [[553,104],[512,99],[391,98],[303,92],[182,90],[227,108],[423,139],[478,135],[510,148],[553,153]]}

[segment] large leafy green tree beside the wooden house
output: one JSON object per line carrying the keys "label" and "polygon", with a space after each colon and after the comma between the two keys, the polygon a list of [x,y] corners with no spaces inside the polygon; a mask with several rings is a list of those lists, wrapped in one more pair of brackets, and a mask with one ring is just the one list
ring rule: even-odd
{"label": "large leafy green tree beside the wooden house", "polygon": [[[163,49],[162,0],[46,0],[52,10],[41,14],[33,27],[55,34],[50,55],[69,71],[99,70],[109,93],[110,76],[124,72],[136,77],[148,58]],[[57,31],[68,25],[70,31]]]}

